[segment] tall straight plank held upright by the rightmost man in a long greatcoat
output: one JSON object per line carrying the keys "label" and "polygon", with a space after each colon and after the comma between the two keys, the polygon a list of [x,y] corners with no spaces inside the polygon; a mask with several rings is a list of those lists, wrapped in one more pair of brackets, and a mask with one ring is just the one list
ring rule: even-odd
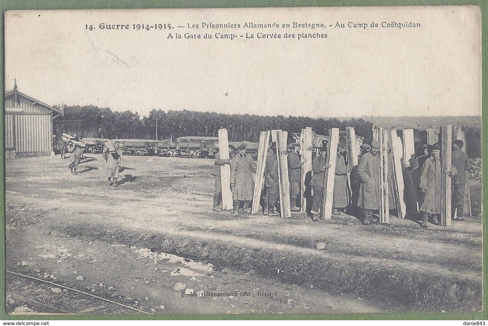
{"label": "tall straight plank held upright by the rightmost man in a long greatcoat", "polygon": [[[441,127],[441,169],[451,167],[452,126]],[[441,225],[451,225],[451,178],[441,172]]]}

